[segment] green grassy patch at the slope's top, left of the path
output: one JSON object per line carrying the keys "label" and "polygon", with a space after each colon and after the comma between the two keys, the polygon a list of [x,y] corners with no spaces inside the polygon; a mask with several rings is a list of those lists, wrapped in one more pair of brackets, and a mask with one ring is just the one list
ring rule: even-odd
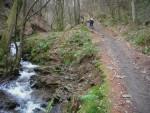
{"label": "green grassy patch at the slope's top, left of the path", "polygon": [[87,29],[82,27],[62,44],[60,56],[64,64],[79,63],[83,58],[90,57],[96,52]]}

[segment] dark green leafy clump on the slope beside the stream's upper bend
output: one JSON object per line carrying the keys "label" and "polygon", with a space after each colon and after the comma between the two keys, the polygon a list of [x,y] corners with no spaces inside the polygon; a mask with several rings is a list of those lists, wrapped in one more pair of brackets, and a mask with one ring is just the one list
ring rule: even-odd
{"label": "dark green leafy clump on the slope beside the stream's upper bend", "polygon": [[35,34],[26,39],[25,58],[36,64],[46,64],[50,61],[50,50],[61,32],[49,33],[47,36]]}

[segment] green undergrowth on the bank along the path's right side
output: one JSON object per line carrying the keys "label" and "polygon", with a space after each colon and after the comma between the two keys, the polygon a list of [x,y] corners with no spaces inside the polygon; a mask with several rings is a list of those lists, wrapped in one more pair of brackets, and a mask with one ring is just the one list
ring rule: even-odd
{"label": "green undergrowth on the bank along the path's right side", "polygon": [[[150,27],[141,24],[133,24],[130,22],[128,16],[124,16],[121,20],[113,18],[112,16],[102,15],[99,17],[99,21],[106,27],[113,27],[120,32],[120,28],[123,28],[121,34],[126,39],[134,44],[144,54],[150,55]],[[127,27],[128,29],[125,29]],[[119,29],[118,29],[119,28]]]}

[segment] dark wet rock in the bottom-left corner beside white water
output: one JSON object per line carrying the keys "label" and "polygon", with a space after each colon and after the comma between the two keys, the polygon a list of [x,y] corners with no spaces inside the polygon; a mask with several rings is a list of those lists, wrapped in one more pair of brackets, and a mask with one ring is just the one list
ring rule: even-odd
{"label": "dark wet rock in the bottom-left corner beside white water", "polygon": [[0,91],[0,109],[14,110],[19,105],[11,97],[7,96],[4,92]]}

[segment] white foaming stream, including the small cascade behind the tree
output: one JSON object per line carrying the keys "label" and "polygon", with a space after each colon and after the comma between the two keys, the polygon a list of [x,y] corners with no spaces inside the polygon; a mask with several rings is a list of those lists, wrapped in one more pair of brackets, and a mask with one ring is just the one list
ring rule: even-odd
{"label": "white foaming stream, including the small cascade behind the tree", "polygon": [[[19,45],[19,44],[17,44]],[[11,55],[16,54],[14,44],[11,44]],[[0,91],[4,92],[8,97],[13,98],[18,106],[15,108],[15,113],[39,113],[44,112],[42,108],[42,100],[32,95],[33,89],[31,84],[31,77],[37,76],[34,71],[37,65],[33,65],[29,61],[21,61],[21,68],[17,79],[7,83],[0,84]],[[0,113],[14,113],[8,112],[0,108]]]}

